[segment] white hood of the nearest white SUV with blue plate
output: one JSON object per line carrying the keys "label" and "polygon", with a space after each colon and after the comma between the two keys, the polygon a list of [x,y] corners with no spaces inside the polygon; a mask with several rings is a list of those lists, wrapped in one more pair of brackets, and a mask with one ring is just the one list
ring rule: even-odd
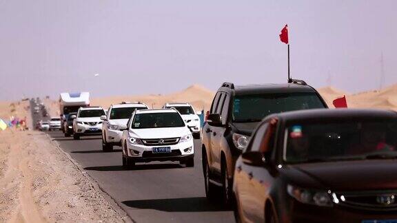
{"label": "white hood of the nearest white SUV with blue plate", "polygon": [[187,127],[130,129],[130,136],[136,138],[174,138],[190,134]]}

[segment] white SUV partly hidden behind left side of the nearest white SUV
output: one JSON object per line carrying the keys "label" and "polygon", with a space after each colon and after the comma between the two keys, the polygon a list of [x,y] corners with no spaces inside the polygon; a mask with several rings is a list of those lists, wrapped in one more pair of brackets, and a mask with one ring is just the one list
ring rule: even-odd
{"label": "white SUV partly hidden behind left side of the nearest white SUV", "polygon": [[110,105],[108,114],[101,116],[102,123],[102,150],[112,151],[114,145],[121,146],[121,136],[127,122],[132,116],[132,112],[141,109],[147,109],[143,103],[121,103]]}

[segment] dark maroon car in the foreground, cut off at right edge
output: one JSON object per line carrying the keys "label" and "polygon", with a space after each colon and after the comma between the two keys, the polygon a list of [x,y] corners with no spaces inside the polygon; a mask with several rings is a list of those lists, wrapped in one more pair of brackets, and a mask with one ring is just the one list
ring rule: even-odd
{"label": "dark maroon car in the foreground, cut off at right edge", "polygon": [[267,116],[238,158],[241,222],[393,222],[397,113],[315,109]]}

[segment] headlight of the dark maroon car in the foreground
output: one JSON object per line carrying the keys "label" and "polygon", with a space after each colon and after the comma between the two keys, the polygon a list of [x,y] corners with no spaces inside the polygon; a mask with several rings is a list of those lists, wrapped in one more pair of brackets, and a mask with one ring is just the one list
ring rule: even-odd
{"label": "headlight of the dark maroon car in the foreground", "polygon": [[[332,202],[338,203],[339,201],[332,200],[331,191],[318,191],[309,190],[295,187],[292,185],[287,185],[287,192],[293,198],[298,200],[303,204],[315,204],[317,206],[332,206]],[[336,198],[335,195],[332,197]]]}

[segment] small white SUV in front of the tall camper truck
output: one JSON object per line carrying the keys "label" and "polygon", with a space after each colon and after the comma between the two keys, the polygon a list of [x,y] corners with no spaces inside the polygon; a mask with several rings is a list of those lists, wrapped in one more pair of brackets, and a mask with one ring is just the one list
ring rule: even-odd
{"label": "small white SUV in front of the tall camper truck", "polygon": [[104,115],[102,107],[80,107],[77,118],[73,120],[73,138],[78,140],[80,136],[101,135],[101,116]]}

